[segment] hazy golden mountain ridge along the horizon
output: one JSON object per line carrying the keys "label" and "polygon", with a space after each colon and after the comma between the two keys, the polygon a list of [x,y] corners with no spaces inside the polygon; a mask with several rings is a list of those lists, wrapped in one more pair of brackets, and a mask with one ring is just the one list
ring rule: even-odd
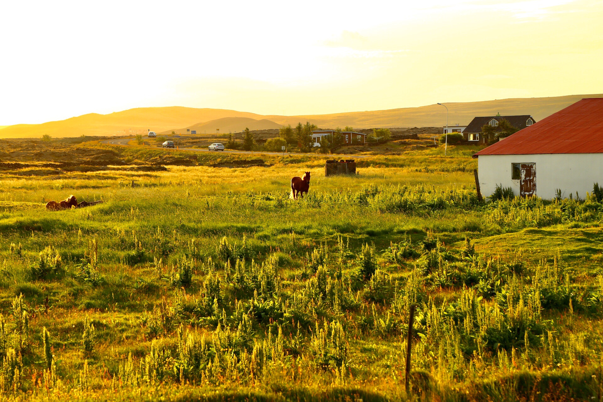
{"label": "hazy golden mountain ridge along the horizon", "polygon": [[[466,125],[476,116],[501,115],[532,115],[539,121],[552,115],[568,105],[582,98],[602,98],[603,94],[595,95],[567,95],[549,98],[511,98],[496,99],[494,101],[479,102],[450,102],[446,103],[449,109],[449,125]],[[309,121],[320,128],[336,128],[352,126],[357,129],[373,127],[442,127],[446,124],[446,109],[433,104],[420,107],[406,107],[389,110],[352,111],[349,113],[332,113],[329,115],[257,115],[237,110],[192,108],[182,106],[171,107],[140,107],[108,115],[89,113],[74,118],[46,122],[42,124],[16,124],[0,128],[0,138],[39,138],[43,134],[52,137],[78,137],[86,136],[112,136],[116,134],[146,133],[147,130],[162,133],[172,130],[186,133],[186,128],[197,127],[208,132],[215,132],[216,128],[221,133],[229,130],[240,131],[247,127],[243,121],[226,119],[218,122],[223,127],[213,127],[216,120],[225,118],[248,118],[253,121],[263,121],[261,125],[268,126],[272,123],[277,126]],[[265,120],[265,121],[264,121]],[[249,122],[251,123],[251,122]],[[230,127],[230,128],[229,128]],[[259,126],[258,126],[259,127]],[[234,130],[233,130],[234,128]],[[249,127],[251,130],[251,127]],[[263,130],[264,128],[256,128]],[[192,130],[195,130],[193,128]]]}

